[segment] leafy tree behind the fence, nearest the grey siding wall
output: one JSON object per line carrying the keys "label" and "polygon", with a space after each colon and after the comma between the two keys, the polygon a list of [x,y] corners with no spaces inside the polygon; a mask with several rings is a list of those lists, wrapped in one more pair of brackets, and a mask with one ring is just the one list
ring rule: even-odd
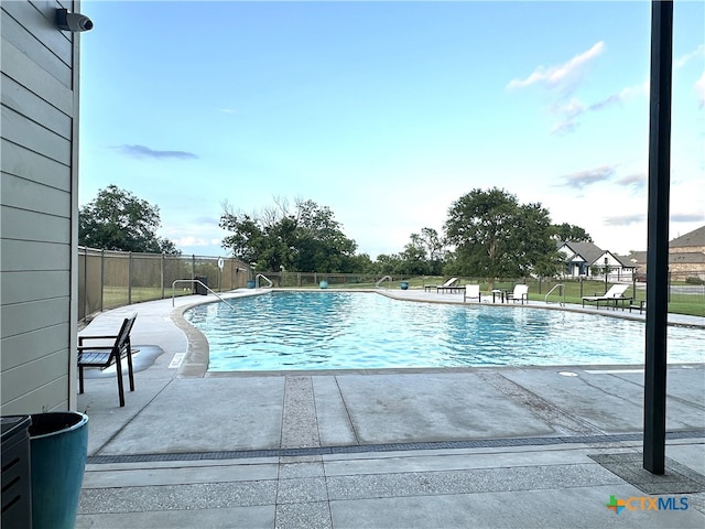
{"label": "leafy tree behind the fence, nearest the grey siding wall", "polygon": [[78,244],[105,250],[178,255],[173,241],[158,237],[159,207],[109,185],[78,212]]}

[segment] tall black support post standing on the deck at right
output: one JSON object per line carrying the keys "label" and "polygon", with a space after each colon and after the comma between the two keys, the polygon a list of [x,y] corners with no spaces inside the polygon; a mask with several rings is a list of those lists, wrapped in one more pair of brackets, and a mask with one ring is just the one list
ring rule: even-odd
{"label": "tall black support post standing on the deck at right", "polygon": [[669,313],[669,201],[673,2],[651,4],[649,121],[649,219],[647,244],[647,339],[643,467],[665,472],[666,325]]}

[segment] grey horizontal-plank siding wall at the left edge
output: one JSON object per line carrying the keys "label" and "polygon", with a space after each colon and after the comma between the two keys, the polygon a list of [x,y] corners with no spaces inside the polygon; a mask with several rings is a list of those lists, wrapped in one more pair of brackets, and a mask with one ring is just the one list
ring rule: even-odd
{"label": "grey horizontal-plank siding wall at the left edge", "polygon": [[56,9],[1,9],[1,412],[75,406],[78,37]]}

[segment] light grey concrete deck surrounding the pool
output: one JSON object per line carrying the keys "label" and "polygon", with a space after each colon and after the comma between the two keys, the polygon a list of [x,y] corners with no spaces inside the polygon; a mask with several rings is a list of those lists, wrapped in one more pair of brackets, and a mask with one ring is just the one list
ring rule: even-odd
{"label": "light grey concrete deck surrounding the pool", "polygon": [[[213,300],[141,303],[82,331],[115,333],[139,312],[126,407],[115,373],[87,375],[78,396],[90,420],[77,528],[705,525],[703,364],[669,368],[666,473],[653,476],[638,366],[208,374],[178,314]],[[641,500],[654,494],[661,510]],[[611,496],[628,508],[608,509]]]}

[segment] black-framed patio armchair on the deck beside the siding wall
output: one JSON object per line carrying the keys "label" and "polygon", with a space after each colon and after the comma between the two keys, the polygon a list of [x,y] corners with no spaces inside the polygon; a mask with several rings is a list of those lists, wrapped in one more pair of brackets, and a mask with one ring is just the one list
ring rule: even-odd
{"label": "black-framed patio armchair on the deck beside the siding wall", "polygon": [[[116,365],[116,375],[118,377],[118,395],[120,397],[120,406],[124,406],[124,389],[122,387],[122,358],[128,360],[128,375],[130,378],[130,391],[134,391],[134,373],[132,370],[132,350],[130,344],[130,332],[137,320],[137,312],[130,317],[126,317],[117,336],[79,336],[78,337],[78,391],[84,392],[84,368],[85,367],[106,367]],[[88,341],[101,341],[105,344],[107,339],[115,339],[112,345],[84,345]]]}

